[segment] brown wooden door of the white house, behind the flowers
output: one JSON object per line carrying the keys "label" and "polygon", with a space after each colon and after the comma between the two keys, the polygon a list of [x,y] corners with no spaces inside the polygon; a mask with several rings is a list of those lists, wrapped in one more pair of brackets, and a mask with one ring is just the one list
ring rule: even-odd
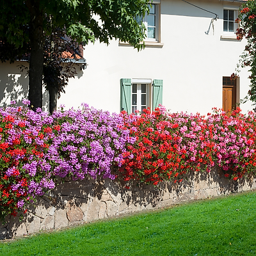
{"label": "brown wooden door of the white house, behind the flowers", "polygon": [[236,81],[230,77],[223,77],[222,108],[225,112],[236,109]]}

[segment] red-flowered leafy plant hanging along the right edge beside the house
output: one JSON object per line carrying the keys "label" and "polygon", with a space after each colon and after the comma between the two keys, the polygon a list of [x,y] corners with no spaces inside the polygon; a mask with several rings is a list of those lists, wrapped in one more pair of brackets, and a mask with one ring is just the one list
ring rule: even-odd
{"label": "red-flowered leafy plant hanging along the right edge beside the house", "polygon": [[[242,4],[236,22],[240,23],[236,31],[237,40],[243,38],[247,40],[244,52],[240,56],[241,60],[239,60],[237,65],[237,72],[239,72],[239,67],[248,66],[251,73],[248,77],[250,79],[250,90],[242,102],[252,100],[252,105],[256,106],[256,1],[248,0]],[[236,77],[236,74],[232,74],[231,79],[236,79]]]}

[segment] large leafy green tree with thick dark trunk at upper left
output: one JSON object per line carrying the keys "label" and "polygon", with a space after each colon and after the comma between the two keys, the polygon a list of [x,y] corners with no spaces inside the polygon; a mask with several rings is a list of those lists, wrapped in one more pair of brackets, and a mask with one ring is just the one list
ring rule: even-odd
{"label": "large leafy green tree with thick dark trunk at upper left", "polygon": [[[113,38],[138,50],[145,27],[135,17],[145,16],[148,0],[0,0],[0,42],[6,51],[2,61],[15,60],[29,49],[29,100],[42,108],[45,36],[59,28],[77,44],[96,39],[105,44]],[[51,19],[51,26],[47,26]],[[15,49],[15,51],[12,51]],[[1,52],[1,50],[0,50]],[[14,56],[14,58],[13,58]]]}

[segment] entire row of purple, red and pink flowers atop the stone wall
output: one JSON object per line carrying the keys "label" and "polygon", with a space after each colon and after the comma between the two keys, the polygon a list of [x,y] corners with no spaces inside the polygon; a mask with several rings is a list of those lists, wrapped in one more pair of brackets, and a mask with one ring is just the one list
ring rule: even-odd
{"label": "entire row of purple, red and pink flowers atop the stone wall", "polygon": [[0,109],[0,217],[26,212],[65,177],[156,186],[217,164],[228,179],[240,179],[255,172],[255,131],[255,113],[244,116],[239,108],[230,116],[214,109],[207,117],[171,114],[163,106],[138,116],[86,104],[52,115]]}

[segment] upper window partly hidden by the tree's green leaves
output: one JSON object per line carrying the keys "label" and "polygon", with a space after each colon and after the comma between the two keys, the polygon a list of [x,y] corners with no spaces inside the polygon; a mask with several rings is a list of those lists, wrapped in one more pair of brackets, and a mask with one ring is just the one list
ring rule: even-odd
{"label": "upper window partly hidden by the tree's green leaves", "polygon": [[147,29],[146,35],[147,41],[159,41],[159,17],[158,17],[158,5],[159,4],[148,4],[149,13],[146,13],[144,19],[137,17],[137,22],[143,23]]}

